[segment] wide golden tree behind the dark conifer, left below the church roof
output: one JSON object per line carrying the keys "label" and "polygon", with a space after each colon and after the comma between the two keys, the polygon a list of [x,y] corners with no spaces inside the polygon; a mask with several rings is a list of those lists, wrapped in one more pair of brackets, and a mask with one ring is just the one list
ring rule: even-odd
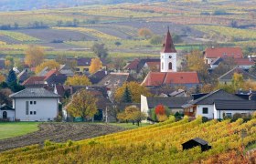
{"label": "wide golden tree behind the dark conifer, left below the church roof", "polygon": [[145,97],[152,96],[147,87],[141,86],[139,83],[132,81],[124,83],[122,87],[119,87],[116,90],[114,97],[117,102],[122,102],[126,87],[128,87],[129,91],[131,92],[132,102],[134,103],[140,103],[141,95],[144,95]]}

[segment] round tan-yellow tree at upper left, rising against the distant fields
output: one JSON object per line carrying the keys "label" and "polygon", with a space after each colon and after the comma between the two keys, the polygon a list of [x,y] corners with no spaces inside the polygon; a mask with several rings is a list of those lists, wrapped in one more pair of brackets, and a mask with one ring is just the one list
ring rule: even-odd
{"label": "round tan-yellow tree at upper left, rising against the distant fields", "polygon": [[44,54],[44,49],[40,46],[28,46],[25,64],[29,67],[37,67],[44,61]]}

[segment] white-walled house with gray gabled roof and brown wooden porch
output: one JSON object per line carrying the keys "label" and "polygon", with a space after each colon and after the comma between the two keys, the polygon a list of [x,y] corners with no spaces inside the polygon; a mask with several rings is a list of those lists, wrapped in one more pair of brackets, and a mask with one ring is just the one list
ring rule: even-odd
{"label": "white-walled house with gray gabled roof and brown wooden porch", "polygon": [[198,97],[197,99],[183,105],[184,114],[189,117],[202,116],[210,119],[218,118],[217,113],[215,112],[215,102],[219,99],[232,101],[244,100],[241,97],[229,94],[228,92],[219,89],[214,92],[210,92],[207,95],[202,95],[202,97]]}

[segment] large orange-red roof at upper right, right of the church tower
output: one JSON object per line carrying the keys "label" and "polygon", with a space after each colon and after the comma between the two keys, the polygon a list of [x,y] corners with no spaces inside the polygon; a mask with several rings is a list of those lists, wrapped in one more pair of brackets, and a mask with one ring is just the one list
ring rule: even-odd
{"label": "large orange-red roof at upper right, right of the church tower", "polygon": [[243,57],[240,47],[208,47],[205,51],[205,54],[206,58]]}

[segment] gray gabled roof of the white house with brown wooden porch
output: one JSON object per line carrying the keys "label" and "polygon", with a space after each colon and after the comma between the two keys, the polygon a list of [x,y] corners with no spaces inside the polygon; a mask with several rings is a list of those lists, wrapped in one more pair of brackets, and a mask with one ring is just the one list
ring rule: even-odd
{"label": "gray gabled roof of the white house with brown wooden porch", "polygon": [[204,97],[199,97],[196,100],[192,100],[188,104],[182,107],[187,108],[187,107],[190,107],[191,105],[212,105],[216,99],[243,100],[241,97],[237,97],[233,94],[229,94],[228,92],[222,89],[219,89],[214,92],[210,92],[208,95]]}

